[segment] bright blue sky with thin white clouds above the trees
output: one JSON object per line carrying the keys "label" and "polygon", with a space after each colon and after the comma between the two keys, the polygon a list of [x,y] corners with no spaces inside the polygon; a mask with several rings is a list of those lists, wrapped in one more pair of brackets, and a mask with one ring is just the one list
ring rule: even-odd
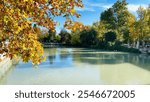
{"label": "bright blue sky with thin white clouds above the trees", "polygon": [[[75,21],[80,21],[84,25],[92,25],[94,22],[99,21],[100,14],[104,10],[111,7],[117,0],[82,0],[84,8],[75,8],[75,10],[81,14],[80,18],[74,17]],[[128,3],[128,10],[136,14],[139,6],[148,7],[150,0],[126,0]],[[60,23],[60,26],[56,27],[57,33],[63,28],[65,19],[63,17],[54,18]]]}

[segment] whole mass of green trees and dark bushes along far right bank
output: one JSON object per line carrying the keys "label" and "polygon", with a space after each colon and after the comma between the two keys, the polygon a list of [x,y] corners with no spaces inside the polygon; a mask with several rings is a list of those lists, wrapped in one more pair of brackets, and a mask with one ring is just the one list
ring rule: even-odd
{"label": "whole mass of green trees and dark bushes along far right bank", "polygon": [[[139,7],[137,17],[127,9],[126,0],[117,0],[100,14],[100,20],[87,29],[62,29],[57,35],[65,45],[139,53],[150,42],[150,6]],[[144,44],[143,44],[144,43]]]}

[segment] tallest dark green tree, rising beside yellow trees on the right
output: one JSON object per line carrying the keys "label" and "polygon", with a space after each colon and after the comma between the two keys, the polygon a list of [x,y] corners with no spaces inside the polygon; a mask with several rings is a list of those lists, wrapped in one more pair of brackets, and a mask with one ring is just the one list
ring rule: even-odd
{"label": "tallest dark green tree, rising beside yellow trees on the right", "polygon": [[124,34],[128,32],[128,14],[126,0],[117,0],[111,8],[101,13],[101,21],[105,23],[107,30],[117,33],[117,40],[120,42],[125,40]]}

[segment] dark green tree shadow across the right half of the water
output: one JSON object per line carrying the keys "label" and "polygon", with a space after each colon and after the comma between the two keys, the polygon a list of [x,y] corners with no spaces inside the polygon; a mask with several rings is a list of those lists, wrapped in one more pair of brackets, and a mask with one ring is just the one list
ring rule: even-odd
{"label": "dark green tree shadow across the right half of the water", "polygon": [[131,63],[138,67],[144,68],[150,71],[150,56],[148,55],[138,55],[138,54],[118,54],[115,53],[75,53],[73,54],[75,61],[80,61],[82,63],[89,64],[121,64],[121,63]]}

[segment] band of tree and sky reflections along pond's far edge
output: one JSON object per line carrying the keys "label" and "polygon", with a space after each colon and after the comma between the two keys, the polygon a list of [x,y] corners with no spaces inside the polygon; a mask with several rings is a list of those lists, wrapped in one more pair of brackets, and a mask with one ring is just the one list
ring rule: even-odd
{"label": "band of tree and sky reflections along pond's far edge", "polygon": [[[50,64],[72,61],[94,65],[130,63],[150,71],[150,56],[123,52],[108,52],[91,49],[57,49],[48,56]],[[70,59],[70,60],[69,60]],[[73,62],[72,62],[73,63]],[[63,65],[63,64],[62,64]]]}

